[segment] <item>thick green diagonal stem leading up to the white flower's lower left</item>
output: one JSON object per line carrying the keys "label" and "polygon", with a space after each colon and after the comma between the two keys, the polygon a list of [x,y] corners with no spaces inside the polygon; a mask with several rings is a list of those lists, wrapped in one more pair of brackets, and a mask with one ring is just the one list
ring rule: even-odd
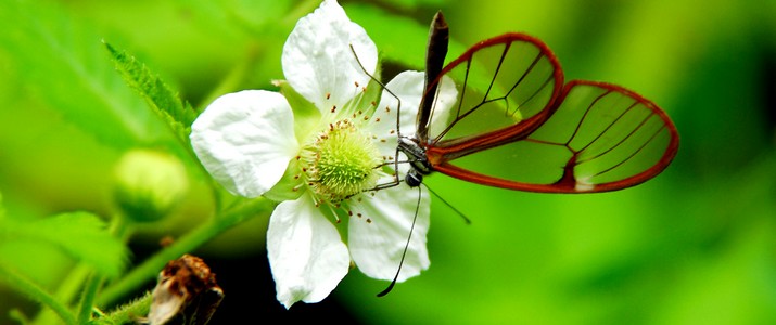
{"label": "thick green diagonal stem leading up to the white flower's lower left", "polygon": [[245,220],[260,214],[268,214],[267,212],[271,211],[273,206],[275,204],[268,199],[256,198],[215,216],[106,287],[97,299],[97,304],[105,307],[115,303],[118,299],[124,298],[143,286],[148,281],[156,277],[168,261],[199,248],[216,235]]}

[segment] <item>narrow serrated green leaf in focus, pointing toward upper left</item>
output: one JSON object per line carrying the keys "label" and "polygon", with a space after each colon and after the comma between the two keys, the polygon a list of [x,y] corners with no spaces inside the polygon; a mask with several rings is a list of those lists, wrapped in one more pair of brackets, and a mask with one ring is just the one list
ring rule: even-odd
{"label": "narrow serrated green leaf in focus, pointing toward upper left", "polygon": [[191,123],[196,118],[196,112],[188,102],[180,100],[177,92],[153,74],[145,64],[139,62],[126,51],[117,51],[107,42],[105,48],[111,52],[111,57],[116,64],[116,69],[130,88],[135,89],[145,100],[149,106],[158,114],[173,129],[175,135],[185,143],[189,143]]}

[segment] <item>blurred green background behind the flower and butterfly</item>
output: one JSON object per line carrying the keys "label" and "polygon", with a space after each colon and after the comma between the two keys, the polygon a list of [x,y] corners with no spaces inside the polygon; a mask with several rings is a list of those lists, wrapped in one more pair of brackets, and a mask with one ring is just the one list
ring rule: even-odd
{"label": "blurred green background behind the flower and butterfly", "polygon": [[[524,31],[567,79],[636,90],[676,122],[679,153],[638,187],[596,195],[486,188],[433,176],[431,269],[387,283],[353,271],[320,304],[285,311],[267,271],[266,218],[195,253],[226,292],[215,324],[279,317],[340,323],[776,323],[776,1],[341,1],[392,70],[422,68],[443,10],[456,43]],[[101,40],[126,49],[202,109],[215,96],[272,89],[293,24],[317,1],[17,1],[0,3],[0,193],[13,218],[111,210],[112,168],[133,147],[177,154],[192,188],[175,218],[132,237],[131,263],[212,213],[205,178],[119,75]],[[73,265],[35,243],[0,259],[47,288]],[[249,263],[255,262],[258,266]],[[153,283],[149,283],[150,286]],[[144,288],[139,288],[139,290]],[[36,307],[0,286],[10,308]],[[257,323],[257,322],[255,322]]]}

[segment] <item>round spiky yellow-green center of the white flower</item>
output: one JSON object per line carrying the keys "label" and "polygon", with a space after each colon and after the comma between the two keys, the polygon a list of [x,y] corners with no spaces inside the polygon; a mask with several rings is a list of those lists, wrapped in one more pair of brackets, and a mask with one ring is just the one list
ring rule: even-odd
{"label": "round spiky yellow-green center of the white flower", "polygon": [[368,134],[343,119],[305,145],[301,154],[307,184],[319,199],[339,203],[374,187],[380,152]]}

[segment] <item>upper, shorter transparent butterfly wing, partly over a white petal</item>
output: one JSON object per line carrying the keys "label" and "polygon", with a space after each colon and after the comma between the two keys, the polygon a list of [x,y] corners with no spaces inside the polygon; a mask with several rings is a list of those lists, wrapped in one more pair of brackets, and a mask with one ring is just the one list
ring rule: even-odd
{"label": "upper, shorter transparent butterfly wing, partly over a white petal", "polygon": [[468,141],[548,115],[550,101],[563,82],[549,49],[522,34],[506,34],[472,47],[450,62],[442,76],[435,81],[442,84],[437,91],[445,91],[445,83],[455,84],[456,96],[454,103],[434,102],[425,140],[433,146]]}

